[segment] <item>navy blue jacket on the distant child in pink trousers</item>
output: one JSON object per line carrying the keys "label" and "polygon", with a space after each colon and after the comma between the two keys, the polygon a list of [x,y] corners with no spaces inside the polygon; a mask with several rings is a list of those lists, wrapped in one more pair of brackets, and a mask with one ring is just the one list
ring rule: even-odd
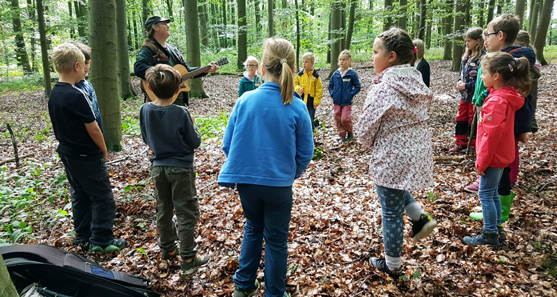
{"label": "navy blue jacket on the distant child in pink trousers", "polygon": [[339,106],[352,105],[352,98],[360,91],[360,80],[354,70],[348,70],[344,77],[340,76],[338,69],[329,80],[329,94],[333,103]]}

